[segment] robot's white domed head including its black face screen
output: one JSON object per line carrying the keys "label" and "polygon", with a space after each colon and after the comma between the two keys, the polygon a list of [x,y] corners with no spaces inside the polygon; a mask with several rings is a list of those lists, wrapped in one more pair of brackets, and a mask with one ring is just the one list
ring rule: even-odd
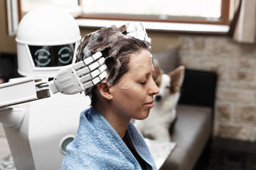
{"label": "robot's white domed head including its black face screen", "polygon": [[54,6],[28,12],[16,34],[18,73],[22,76],[55,77],[75,62],[80,30],[70,13]]}

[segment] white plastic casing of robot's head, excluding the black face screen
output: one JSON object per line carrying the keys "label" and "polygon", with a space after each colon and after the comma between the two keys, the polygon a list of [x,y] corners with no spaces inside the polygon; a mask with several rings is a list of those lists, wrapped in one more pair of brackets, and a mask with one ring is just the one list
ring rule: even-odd
{"label": "white plastic casing of robot's head, excluding the black face screen", "polygon": [[78,23],[67,11],[54,6],[33,9],[18,25],[16,34],[18,73],[22,76],[54,77],[62,67],[35,67],[28,45],[50,46],[75,43],[75,53],[80,39]]}

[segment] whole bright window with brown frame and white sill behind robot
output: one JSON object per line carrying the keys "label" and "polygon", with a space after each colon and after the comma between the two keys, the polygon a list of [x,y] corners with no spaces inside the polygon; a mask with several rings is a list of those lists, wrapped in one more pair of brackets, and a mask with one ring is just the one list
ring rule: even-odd
{"label": "whole bright window with brown frame and white sill behind robot", "polygon": [[[64,8],[81,27],[99,28],[122,21],[142,21],[149,30],[188,31],[193,33],[226,33],[229,18],[232,18],[235,2],[238,0],[6,0],[18,4],[10,11],[21,20],[31,9],[42,5]],[[7,4],[8,6],[8,4]],[[18,12],[17,12],[18,11]],[[231,14],[231,15],[230,15]],[[9,17],[15,33],[18,21]],[[86,20],[85,20],[86,19]],[[115,21],[113,21],[115,20]],[[149,22],[146,22],[149,21]],[[186,24],[183,24],[186,23]],[[188,24],[187,24],[188,23]],[[192,24],[191,24],[192,23]],[[193,24],[196,23],[196,24]],[[189,26],[188,26],[189,25]]]}

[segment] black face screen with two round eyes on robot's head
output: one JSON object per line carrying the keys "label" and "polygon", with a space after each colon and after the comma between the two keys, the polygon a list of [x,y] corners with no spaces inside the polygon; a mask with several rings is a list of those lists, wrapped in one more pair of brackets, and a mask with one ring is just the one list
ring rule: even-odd
{"label": "black face screen with two round eyes on robot's head", "polygon": [[58,67],[72,64],[75,43],[68,45],[28,45],[35,67]]}

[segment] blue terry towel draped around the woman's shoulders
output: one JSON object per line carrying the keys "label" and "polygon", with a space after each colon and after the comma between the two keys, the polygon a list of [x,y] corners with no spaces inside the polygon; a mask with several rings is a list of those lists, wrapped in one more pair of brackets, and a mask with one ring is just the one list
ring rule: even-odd
{"label": "blue terry towel draped around the woman's shoulders", "polygon": [[[146,162],[146,169],[156,169],[144,138],[129,123],[127,133],[137,153]],[[93,107],[80,115],[80,125],[73,142],[67,147],[61,169],[141,169],[137,159],[110,123]]]}

